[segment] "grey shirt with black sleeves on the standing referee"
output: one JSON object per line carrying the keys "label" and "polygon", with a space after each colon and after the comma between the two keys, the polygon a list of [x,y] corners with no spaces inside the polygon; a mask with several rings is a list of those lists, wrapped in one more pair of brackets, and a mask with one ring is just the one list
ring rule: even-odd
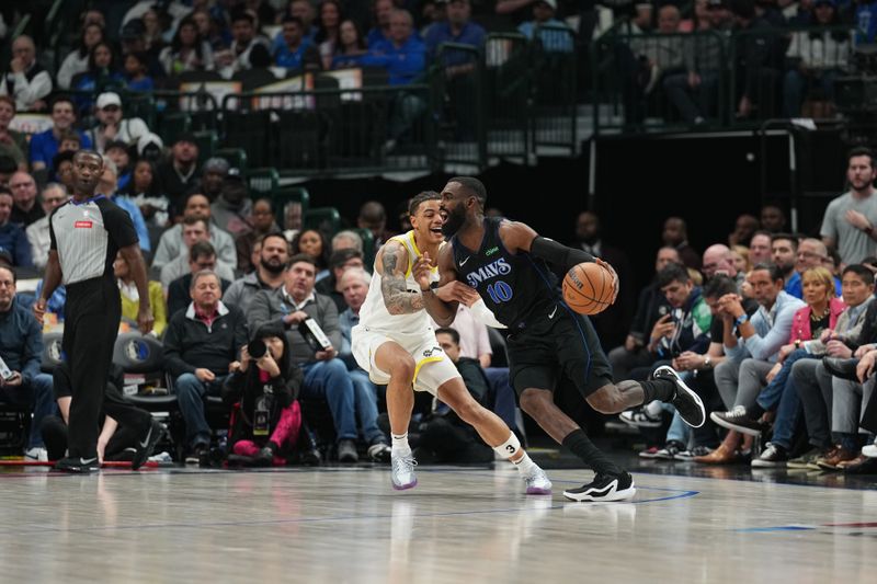
{"label": "grey shirt with black sleeves on the standing referee", "polygon": [[65,286],[98,277],[112,279],[119,248],[138,242],[130,216],[104,195],[82,203],[71,198],[55,209],[49,237]]}

